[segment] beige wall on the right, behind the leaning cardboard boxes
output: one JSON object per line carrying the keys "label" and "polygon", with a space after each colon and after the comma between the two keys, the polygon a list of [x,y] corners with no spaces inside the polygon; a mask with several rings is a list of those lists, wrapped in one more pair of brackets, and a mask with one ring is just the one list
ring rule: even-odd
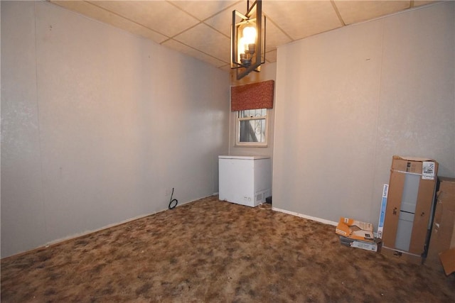
{"label": "beige wall on the right, behind the leaning cardboard boxes", "polygon": [[279,48],[274,208],[377,226],[392,155],[455,176],[454,17],[449,1]]}

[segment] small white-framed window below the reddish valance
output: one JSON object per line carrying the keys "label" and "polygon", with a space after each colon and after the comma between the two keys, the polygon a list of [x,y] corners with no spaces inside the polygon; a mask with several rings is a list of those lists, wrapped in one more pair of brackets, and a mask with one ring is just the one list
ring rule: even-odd
{"label": "small white-framed window below the reddish valance", "polygon": [[267,109],[237,111],[236,145],[267,146]]}

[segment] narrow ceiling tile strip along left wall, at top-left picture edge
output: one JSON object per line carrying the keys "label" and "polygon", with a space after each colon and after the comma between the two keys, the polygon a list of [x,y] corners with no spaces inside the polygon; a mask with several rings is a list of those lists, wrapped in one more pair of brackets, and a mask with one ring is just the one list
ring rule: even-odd
{"label": "narrow ceiling tile strip along left wall, at top-left picture edge", "polygon": [[115,13],[110,13],[105,9],[101,9],[98,6],[94,6],[86,1],[52,1],[54,4],[70,9],[71,11],[77,11],[82,13],[84,16],[94,18],[97,21],[102,21],[104,23],[110,24],[117,28],[121,28],[124,31],[134,33],[136,35],[141,35],[144,38],[148,38],[156,43],[161,43],[166,40],[165,35],[161,35],[156,31],[152,31],[149,28],[141,26],[134,21],[130,21],[127,18],[119,16]]}

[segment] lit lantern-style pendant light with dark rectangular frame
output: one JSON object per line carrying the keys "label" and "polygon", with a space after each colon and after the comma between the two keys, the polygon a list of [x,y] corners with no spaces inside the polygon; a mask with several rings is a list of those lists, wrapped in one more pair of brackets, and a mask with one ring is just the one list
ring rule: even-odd
{"label": "lit lantern-style pendant light with dark rectangular frame", "polygon": [[265,16],[262,16],[262,1],[257,0],[243,15],[232,11],[230,67],[236,69],[237,80],[250,72],[260,72],[265,63]]}

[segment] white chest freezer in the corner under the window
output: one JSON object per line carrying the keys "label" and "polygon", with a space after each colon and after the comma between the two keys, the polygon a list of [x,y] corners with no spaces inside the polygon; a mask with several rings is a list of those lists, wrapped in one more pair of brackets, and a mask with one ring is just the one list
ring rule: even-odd
{"label": "white chest freezer in the corner under the window", "polygon": [[265,202],[272,191],[269,156],[218,156],[219,199],[246,206]]}

